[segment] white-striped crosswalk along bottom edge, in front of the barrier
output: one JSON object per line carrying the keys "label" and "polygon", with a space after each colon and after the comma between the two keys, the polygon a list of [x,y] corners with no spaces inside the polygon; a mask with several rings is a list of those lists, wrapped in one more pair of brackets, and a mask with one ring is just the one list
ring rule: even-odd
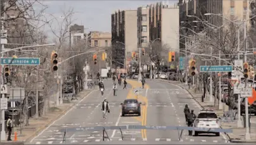
{"label": "white-striped crosswalk along bottom edge, in front of the barrier", "polygon": [[170,139],[170,138],[155,138],[155,139],[146,139],[146,138],[113,138],[113,139],[105,139],[105,141],[103,141],[103,139],[79,139],[79,140],[67,140],[67,141],[62,141],[62,139],[58,140],[58,141],[36,141],[33,142],[33,144],[82,144],[82,143],[90,143],[90,142],[108,142],[108,141],[113,141],[113,142],[122,142],[122,141],[132,141],[132,142],[136,142],[136,141],[143,141],[143,142],[147,142],[147,141],[155,141],[155,142],[215,142],[215,143],[229,143],[227,141],[217,141],[217,140],[205,140],[205,139]]}

